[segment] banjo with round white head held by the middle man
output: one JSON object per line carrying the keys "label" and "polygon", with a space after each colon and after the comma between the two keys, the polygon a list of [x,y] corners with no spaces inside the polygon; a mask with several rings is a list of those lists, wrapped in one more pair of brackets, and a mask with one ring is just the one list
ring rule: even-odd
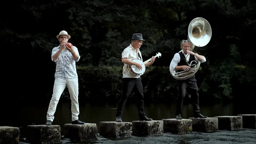
{"label": "banjo with round white head held by the middle man", "polygon": [[[155,55],[154,57],[161,57],[162,54],[161,53],[157,53],[157,55]],[[131,61],[133,62],[137,62],[139,64],[142,65],[142,69],[140,70],[139,68],[137,68],[135,65],[128,65],[128,68],[129,68],[129,71],[132,73],[132,75],[134,76],[142,76],[144,74],[144,72],[146,71],[146,67],[145,67],[145,64],[149,61],[151,61],[151,58],[146,60],[146,61],[142,61],[138,58],[133,58]]]}

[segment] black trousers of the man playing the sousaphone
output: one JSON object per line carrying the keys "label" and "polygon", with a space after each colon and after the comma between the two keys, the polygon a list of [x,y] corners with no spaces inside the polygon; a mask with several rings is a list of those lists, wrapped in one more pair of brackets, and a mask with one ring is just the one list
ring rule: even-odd
{"label": "black trousers of the man playing the sousaphone", "polygon": [[186,80],[178,80],[179,95],[175,115],[182,115],[183,99],[185,97],[186,91],[188,91],[188,93],[191,94],[194,116],[200,114],[199,93],[196,82],[197,80],[195,79],[194,76]]}

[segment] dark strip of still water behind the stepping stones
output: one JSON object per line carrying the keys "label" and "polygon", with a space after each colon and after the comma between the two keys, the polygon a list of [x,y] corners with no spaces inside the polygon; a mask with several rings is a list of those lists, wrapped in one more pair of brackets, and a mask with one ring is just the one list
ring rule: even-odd
{"label": "dark strip of still water behind the stepping stones", "polygon": [[[239,107],[239,108],[237,108]],[[237,114],[255,114],[255,105],[241,106],[230,103],[227,105],[218,104],[213,106],[200,106],[201,113],[208,117],[221,115],[237,115]],[[241,109],[243,107],[244,109]],[[193,117],[193,109],[191,104],[184,105],[182,118]],[[16,119],[19,119],[18,125],[25,126],[31,124],[45,124],[46,112],[48,104],[44,105],[22,105],[16,113]],[[166,118],[175,118],[176,103],[151,103],[145,105],[145,113],[153,120],[162,120]],[[101,121],[114,121],[116,114],[116,104],[99,104],[99,103],[80,103],[79,119],[87,123],[96,123],[99,125]],[[54,114],[54,125],[71,123],[71,103],[63,102],[57,106]],[[131,122],[138,120],[138,109],[135,103],[127,103],[123,113],[123,121]],[[5,124],[12,126],[12,124]]]}

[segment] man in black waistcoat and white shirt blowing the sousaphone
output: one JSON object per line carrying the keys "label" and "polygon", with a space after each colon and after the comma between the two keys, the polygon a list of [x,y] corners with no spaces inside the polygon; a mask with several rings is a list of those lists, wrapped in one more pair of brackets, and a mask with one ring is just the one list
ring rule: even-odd
{"label": "man in black waistcoat and white shirt blowing the sousaphone", "polygon": [[[204,56],[201,56],[199,54],[196,54],[192,52],[193,48],[191,49],[191,41],[189,40],[182,40],[181,41],[181,49],[182,51],[179,53],[174,54],[174,57],[171,62],[171,68],[173,71],[181,71],[182,69],[185,71],[189,70],[188,64],[191,63],[191,61],[200,61],[200,62],[206,62],[206,58]],[[187,56],[188,54],[188,56]],[[186,57],[187,56],[187,57]],[[182,115],[182,106],[183,106],[183,98],[185,97],[186,91],[191,94],[192,98],[192,105],[193,105],[193,113],[195,118],[207,118],[206,116],[203,116],[200,114],[200,108],[199,108],[199,94],[198,94],[198,87],[197,87],[197,80],[195,78],[195,75],[189,77],[185,80],[178,80],[178,101],[177,101],[177,109],[176,109],[176,119],[181,120]]]}

